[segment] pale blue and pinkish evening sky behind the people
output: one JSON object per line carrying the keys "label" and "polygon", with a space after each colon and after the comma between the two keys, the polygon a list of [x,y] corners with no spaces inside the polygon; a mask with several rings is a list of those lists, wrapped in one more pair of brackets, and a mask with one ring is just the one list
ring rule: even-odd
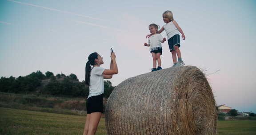
{"label": "pale blue and pinkish evening sky behind the people", "polygon": [[[40,70],[82,81],[88,55],[98,52],[109,68],[113,48],[116,86],[151,71],[143,44],[149,24],[164,25],[166,10],[186,36],[184,63],[205,72],[216,104],[256,113],[255,0],[0,0],[0,76]],[[162,67],[171,67],[168,42],[162,46]]]}

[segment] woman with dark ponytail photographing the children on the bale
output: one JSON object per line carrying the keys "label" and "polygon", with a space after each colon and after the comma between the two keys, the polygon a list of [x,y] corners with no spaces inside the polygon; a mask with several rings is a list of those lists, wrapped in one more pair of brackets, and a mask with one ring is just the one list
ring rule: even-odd
{"label": "woman with dark ponytail photographing the children on the bale", "polygon": [[[110,79],[112,75],[118,73],[115,53],[111,53],[110,57],[110,69],[104,69],[100,67],[101,64],[104,64],[103,58],[97,52],[88,56],[85,67],[85,84],[89,86],[89,95],[86,101],[87,116],[83,135],[94,135],[96,133],[103,113],[103,79]],[[93,67],[91,68],[90,65]]]}

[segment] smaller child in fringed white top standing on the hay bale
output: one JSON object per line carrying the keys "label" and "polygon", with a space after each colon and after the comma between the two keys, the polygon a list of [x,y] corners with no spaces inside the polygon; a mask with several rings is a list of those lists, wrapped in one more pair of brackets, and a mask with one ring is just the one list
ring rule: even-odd
{"label": "smaller child in fringed white top standing on the hay bale", "polygon": [[[161,34],[157,34],[157,30],[159,28],[159,25],[156,24],[150,24],[148,26],[149,32],[151,33],[151,36],[148,38],[148,44],[144,43],[144,46],[150,47],[150,53],[153,57],[153,68],[152,71],[157,71],[162,69],[161,67],[161,55],[162,55],[162,45],[161,43],[164,43],[166,41],[165,38]],[[156,68],[156,60],[158,67]]]}

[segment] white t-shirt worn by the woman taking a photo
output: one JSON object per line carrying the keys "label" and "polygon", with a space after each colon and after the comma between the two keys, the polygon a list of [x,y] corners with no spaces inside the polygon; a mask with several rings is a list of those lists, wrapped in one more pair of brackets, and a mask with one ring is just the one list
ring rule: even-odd
{"label": "white t-shirt worn by the woman taking a photo", "polygon": [[[90,86],[88,98],[104,93],[103,67],[93,67],[90,76]],[[87,98],[87,99],[88,99]]]}

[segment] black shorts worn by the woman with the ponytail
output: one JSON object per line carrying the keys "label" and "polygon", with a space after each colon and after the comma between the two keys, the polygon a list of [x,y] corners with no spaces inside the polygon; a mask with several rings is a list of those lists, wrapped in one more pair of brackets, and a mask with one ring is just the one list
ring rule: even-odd
{"label": "black shorts worn by the woman with the ponytail", "polygon": [[87,114],[92,112],[103,113],[103,94],[91,96],[86,100]]}

